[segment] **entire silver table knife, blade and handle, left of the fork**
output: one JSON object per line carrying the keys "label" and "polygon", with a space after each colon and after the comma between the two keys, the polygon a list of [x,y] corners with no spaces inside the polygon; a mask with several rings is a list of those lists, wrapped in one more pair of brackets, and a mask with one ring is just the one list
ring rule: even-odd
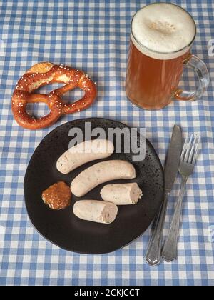
{"label": "entire silver table knife, blade and handle, left of the fork", "polygon": [[150,266],[156,266],[161,262],[161,247],[163,239],[163,227],[165,222],[165,213],[168,204],[168,196],[173,188],[176,175],[178,173],[178,166],[180,164],[180,155],[182,151],[182,133],[180,126],[175,125],[173,134],[168,148],[168,154],[165,160],[164,179],[165,179],[165,193],[163,204],[159,214],[153,225],[153,235],[148,245],[146,253],[146,261]]}

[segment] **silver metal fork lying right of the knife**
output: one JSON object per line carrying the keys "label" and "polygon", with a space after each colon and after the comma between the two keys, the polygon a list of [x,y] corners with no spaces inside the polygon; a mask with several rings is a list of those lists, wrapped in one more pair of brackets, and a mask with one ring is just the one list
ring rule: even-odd
{"label": "silver metal fork lying right of the knife", "polygon": [[180,157],[180,166],[178,171],[182,176],[182,184],[180,186],[180,194],[178,196],[178,204],[175,208],[175,214],[173,216],[173,221],[170,226],[168,237],[165,240],[163,246],[162,256],[167,262],[177,259],[177,244],[180,228],[180,215],[182,209],[182,200],[185,192],[185,184],[188,180],[188,176],[193,173],[195,166],[195,160],[198,153],[198,145],[200,143],[200,136],[191,134],[190,137],[185,139],[185,144],[183,146],[183,151]]}

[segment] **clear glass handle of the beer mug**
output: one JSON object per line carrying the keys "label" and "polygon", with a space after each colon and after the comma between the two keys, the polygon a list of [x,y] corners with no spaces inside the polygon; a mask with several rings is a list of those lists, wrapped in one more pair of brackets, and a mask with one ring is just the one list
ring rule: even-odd
{"label": "clear glass handle of the beer mug", "polygon": [[200,99],[203,95],[203,92],[208,88],[210,83],[210,76],[205,63],[198,59],[197,56],[190,54],[184,61],[183,64],[186,66],[190,66],[198,76],[199,86],[196,91],[183,91],[182,89],[176,89],[174,93],[174,98],[177,100],[185,100],[185,101],[195,101]]}

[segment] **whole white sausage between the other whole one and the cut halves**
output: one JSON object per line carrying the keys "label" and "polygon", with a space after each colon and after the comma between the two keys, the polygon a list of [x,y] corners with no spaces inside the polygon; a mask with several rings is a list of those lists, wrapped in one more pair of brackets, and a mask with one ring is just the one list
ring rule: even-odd
{"label": "whole white sausage between the other whole one and the cut halves", "polygon": [[75,196],[82,197],[104,182],[133,178],[136,178],[136,170],[128,161],[102,161],[78,174],[71,182],[71,191]]}

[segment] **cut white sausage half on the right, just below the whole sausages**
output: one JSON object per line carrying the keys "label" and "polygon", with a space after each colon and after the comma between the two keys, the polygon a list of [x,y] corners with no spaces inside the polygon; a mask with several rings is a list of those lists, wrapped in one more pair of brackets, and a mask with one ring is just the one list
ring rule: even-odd
{"label": "cut white sausage half on the right, just below the whole sausages", "polygon": [[117,205],[136,204],[143,193],[138,184],[108,184],[101,189],[103,200]]}

